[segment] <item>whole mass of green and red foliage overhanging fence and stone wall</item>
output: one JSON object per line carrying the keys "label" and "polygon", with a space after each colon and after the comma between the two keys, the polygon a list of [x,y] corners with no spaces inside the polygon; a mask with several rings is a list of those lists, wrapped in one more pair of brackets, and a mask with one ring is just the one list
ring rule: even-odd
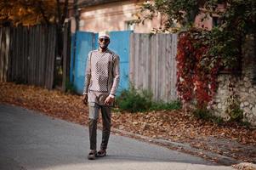
{"label": "whole mass of green and red foliage overhanging fence and stone wall", "polygon": [[[200,109],[213,99],[219,71],[241,73],[246,37],[253,36],[256,44],[255,11],[255,0],[154,0],[145,1],[138,19],[143,23],[162,14],[159,31],[182,31],[177,55],[179,97],[196,99]],[[200,15],[205,16],[202,21],[217,18],[212,29],[195,28]]]}

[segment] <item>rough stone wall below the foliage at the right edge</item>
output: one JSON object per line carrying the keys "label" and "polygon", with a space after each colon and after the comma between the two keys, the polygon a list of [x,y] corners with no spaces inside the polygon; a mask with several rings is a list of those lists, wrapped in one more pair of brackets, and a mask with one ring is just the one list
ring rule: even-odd
{"label": "rough stone wall below the foliage at the right edge", "polygon": [[[256,84],[253,83],[255,60],[253,37],[247,37],[247,42],[243,47],[242,76],[236,77],[230,74],[219,76],[219,89],[214,99],[215,105],[213,105],[216,115],[229,119],[229,115],[226,113],[229,105],[227,100],[234,93],[238,96],[244,121],[251,122],[256,126]],[[234,86],[233,92],[230,91],[230,84]]]}

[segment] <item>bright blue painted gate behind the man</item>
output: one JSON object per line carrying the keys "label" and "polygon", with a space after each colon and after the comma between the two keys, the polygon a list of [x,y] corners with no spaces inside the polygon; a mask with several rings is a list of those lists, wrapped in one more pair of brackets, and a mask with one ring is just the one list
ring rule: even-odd
{"label": "bright blue painted gate behind the man", "polygon": [[[129,73],[129,43],[130,34],[132,31],[111,31],[111,43],[109,48],[120,57],[120,82],[117,89],[117,94],[120,94],[122,89],[128,88],[128,73]],[[88,52],[98,48],[98,33],[77,31],[72,37],[72,47],[74,41],[77,42],[75,53],[71,50],[71,82],[77,92],[82,94],[85,68],[88,58]],[[75,57],[74,57],[75,54]]]}

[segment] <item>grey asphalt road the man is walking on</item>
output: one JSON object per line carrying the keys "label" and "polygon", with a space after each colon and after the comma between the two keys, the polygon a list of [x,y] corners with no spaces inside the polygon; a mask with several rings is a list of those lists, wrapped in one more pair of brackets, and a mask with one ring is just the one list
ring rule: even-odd
{"label": "grey asphalt road the man is walking on", "polygon": [[[100,141],[100,131],[98,133]],[[100,143],[100,142],[98,142]],[[136,139],[111,135],[107,156],[88,161],[88,128],[0,105],[0,169],[232,169]]]}

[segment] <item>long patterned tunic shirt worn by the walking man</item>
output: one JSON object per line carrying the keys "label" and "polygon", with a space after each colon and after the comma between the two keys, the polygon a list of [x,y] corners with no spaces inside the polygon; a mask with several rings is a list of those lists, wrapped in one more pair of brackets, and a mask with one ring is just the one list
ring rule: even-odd
{"label": "long patterned tunic shirt worn by the walking man", "polygon": [[116,95],[120,77],[119,56],[110,49],[89,52],[85,74],[83,94],[88,94],[88,103],[104,105],[107,96]]}

